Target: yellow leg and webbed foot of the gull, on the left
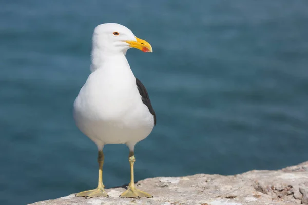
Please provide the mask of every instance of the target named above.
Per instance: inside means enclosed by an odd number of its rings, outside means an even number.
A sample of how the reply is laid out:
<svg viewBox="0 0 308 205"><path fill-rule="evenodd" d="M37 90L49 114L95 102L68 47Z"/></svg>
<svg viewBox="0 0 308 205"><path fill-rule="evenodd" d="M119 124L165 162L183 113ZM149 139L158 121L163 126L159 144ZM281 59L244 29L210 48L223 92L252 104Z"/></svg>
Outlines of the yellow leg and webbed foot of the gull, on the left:
<svg viewBox="0 0 308 205"><path fill-rule="evenodd" d="M83 197L86 197L86 198L92 198L92 197L98 197L98 196L108 197L107 192L104 190L105 186L103 184L103 163L104 163L103 151L99 151L98 162L99 162L99 183L98 183L98 187L96 189L79 192L75 196L83 196Z"/></svg>

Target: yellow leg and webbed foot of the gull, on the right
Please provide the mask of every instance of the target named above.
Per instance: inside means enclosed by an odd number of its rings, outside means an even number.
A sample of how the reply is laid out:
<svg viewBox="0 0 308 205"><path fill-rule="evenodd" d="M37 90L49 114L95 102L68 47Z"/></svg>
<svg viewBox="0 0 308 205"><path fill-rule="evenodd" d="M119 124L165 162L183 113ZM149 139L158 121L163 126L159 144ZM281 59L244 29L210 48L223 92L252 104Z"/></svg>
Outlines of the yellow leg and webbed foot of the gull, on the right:
<svg viewBox="0 0 308 205"><path fill-rule="evenodd" d="M133 176L133 164L135 162L134 153L133 151L129 152L129 163L130 163L130 183L128 185L128 189L123 192L120 197L129 197L129 198L138 198L141 197L147 197L147 198L153 198L151 194L148 194L146 192L143 192L139 189L137 189L134 185L134 176Z"/></svg>

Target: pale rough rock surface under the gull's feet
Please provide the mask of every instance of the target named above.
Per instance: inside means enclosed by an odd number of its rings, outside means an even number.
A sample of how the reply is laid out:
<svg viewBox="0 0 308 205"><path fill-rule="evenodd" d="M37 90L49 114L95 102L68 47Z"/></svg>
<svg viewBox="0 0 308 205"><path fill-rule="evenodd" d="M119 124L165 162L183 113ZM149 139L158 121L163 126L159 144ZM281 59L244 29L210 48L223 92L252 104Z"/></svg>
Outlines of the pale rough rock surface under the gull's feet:
<svg viewBox="0 0 308 205"><path fill-rule="evenodd" d="M119 187L106 189L109 198L86 199L71 194L33 204L308 204L308 161L278 171L253 170L233 176L196 174L150 178L139 181L137 186L154 198L118 198L125 190Z"/></svg>

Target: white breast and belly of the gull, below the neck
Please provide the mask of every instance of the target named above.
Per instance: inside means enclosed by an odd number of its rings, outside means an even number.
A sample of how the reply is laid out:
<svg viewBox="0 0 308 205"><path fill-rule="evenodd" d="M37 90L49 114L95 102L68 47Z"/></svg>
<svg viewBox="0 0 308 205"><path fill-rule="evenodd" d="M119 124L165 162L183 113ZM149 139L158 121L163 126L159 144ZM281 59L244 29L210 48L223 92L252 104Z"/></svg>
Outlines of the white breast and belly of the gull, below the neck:
<svg viewBox="0 0 308 205"><path fill-rule="evenodd" d="M112 69L105 69L105 65L91 73L74 102L76 125L98 147L134 145L154 126L153 115L142 103L127 61L117 65L109 65Z"/></svg>

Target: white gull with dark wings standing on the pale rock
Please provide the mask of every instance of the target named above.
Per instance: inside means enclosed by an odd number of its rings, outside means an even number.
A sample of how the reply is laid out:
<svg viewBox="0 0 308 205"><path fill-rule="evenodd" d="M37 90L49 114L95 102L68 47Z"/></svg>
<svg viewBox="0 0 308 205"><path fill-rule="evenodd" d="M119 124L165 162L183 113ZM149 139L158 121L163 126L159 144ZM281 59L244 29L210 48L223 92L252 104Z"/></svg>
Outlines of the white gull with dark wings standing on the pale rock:
<svg viewBox="0 0 308 205"><path fill-rule="evenodd" d="M126 59L130 48L153 51L148 42L137 38L123 25L106 23L95 27L91 73L74 101L73 115L76 126L98 147L99 182L96 189L76 196L108 197L103 184L103 147L106 144L126 144L129 148L130 183L120 197L153 197L134 185L134 146L151 133L156 125L156 115L146 88L134 76Z"/></svg>

